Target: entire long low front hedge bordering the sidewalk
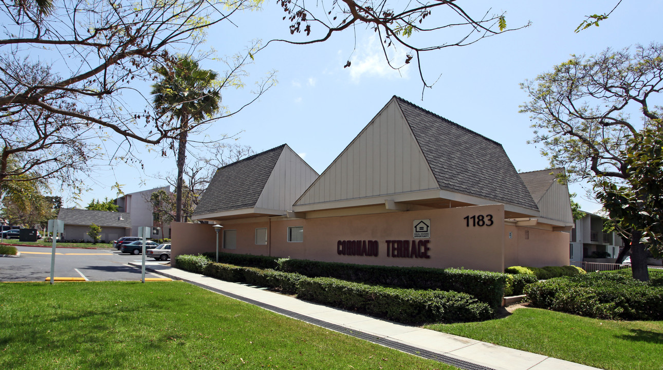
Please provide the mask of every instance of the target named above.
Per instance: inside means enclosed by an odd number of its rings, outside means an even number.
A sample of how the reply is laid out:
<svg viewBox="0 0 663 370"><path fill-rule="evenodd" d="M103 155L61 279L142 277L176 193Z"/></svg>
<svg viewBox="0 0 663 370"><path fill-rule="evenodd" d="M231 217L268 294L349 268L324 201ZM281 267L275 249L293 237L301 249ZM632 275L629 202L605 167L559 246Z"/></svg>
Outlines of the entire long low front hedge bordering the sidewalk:
<svg viewBox="0 0 663 370"><path fill-rule="evenodd" d="M233 282L247 282L297 294L298 298L407 324L488 320L493 309L464 293L371 286L334 278L212 263L207 257L179 255L178 268Z"/></svg>

